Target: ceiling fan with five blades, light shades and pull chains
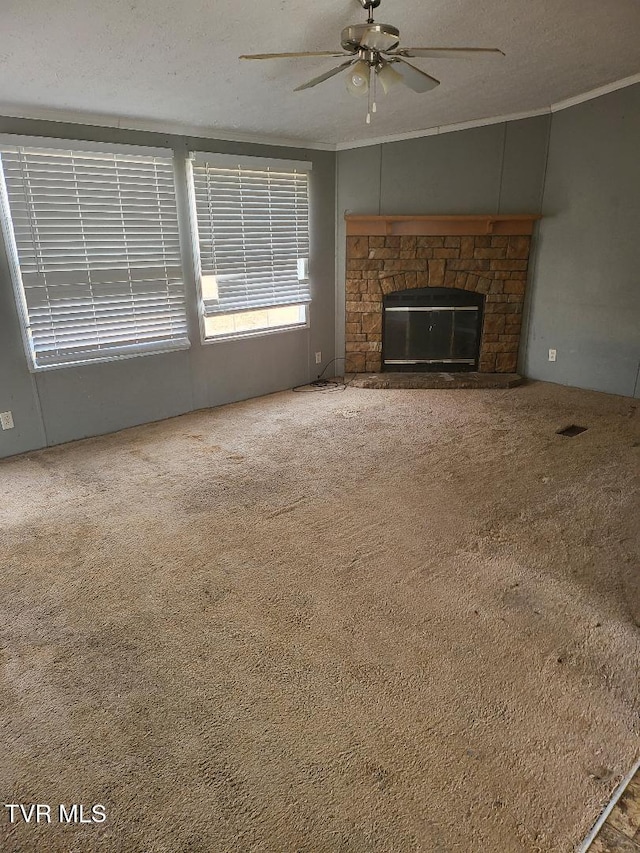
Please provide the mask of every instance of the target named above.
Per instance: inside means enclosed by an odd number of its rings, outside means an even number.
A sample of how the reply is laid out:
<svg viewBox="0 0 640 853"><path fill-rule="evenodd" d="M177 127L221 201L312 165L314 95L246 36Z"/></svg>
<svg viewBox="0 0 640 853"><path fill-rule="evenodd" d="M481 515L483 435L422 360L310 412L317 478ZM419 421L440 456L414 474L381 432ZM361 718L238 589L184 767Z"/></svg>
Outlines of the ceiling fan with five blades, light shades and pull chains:
<svg viewBox="0 0 640 853"><path fill-rule="evenodd" d="M342 51L320 50L299 53L243 54L240 59L295 59L306 56L348 57L346 62L314 77L295 91L311 89L342 71L347 71L347 90L355 96L369 96L367 124L376 112L376 83L385 94L398 83L404 83L414 92L429 92L440 85L430 74L407 62L407 57L429 59L455 59L476 56L504 56L495 47L400 47L400 31L391 24L378 24L373 20L373 10L380 0L358 0L368 17L366 24L352 24L342 31Z"/></svg>

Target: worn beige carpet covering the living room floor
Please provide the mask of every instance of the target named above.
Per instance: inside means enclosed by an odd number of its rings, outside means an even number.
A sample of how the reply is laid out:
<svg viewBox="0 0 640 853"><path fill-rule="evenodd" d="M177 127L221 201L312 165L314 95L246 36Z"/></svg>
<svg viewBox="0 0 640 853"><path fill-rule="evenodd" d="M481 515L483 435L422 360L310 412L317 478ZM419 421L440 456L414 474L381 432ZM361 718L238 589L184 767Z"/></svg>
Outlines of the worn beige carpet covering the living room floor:
<svg viewBox="0 0 640 853"><path fill-rule="evenodd" d="M287 392L0 481L2 851L564 853L638 754L639 401Z"/></svg>

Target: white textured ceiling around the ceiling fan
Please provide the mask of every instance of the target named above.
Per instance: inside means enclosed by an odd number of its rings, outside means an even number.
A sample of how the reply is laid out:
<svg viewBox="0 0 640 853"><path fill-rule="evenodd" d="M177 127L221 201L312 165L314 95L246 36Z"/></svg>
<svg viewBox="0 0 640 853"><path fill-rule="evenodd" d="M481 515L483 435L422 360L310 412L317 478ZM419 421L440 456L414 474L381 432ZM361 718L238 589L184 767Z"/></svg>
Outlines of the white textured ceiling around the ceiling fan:
<svg viewBox="0 0 640 853"><path fill-rule="evenodd" d="M640 0L382 0L376 20L410 45L499 47L503 59L414 60L442 85L366 102L339 60L247 62L241 53L331 50L357 0L4 0L0 113L228 137L362 143L532 112L640 72Z"/></svg>

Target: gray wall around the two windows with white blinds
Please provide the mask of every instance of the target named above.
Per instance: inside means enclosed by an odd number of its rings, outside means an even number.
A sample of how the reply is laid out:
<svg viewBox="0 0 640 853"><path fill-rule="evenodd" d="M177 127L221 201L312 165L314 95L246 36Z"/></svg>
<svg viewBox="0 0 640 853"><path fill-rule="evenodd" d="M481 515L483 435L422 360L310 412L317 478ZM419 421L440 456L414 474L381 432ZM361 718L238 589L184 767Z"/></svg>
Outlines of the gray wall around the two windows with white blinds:
<svg viewBox="0 0 640 853"><path fill-rule="evenodd" d="M8 118L0 118L0 133L169 145L183 158L193 148L313 163L309 329L201 344L193 264L189 246L184 245L189 350L30 373L0 240L0 411L11 410L15 421L14 429L0 431L0 457L291 388L315 378L331 360L335 348L335 154ZM180 156L176 192L184 236L188 235L188 206ZM319 366L315 364L318 351L323 356Z"/></svg>

